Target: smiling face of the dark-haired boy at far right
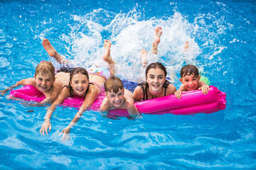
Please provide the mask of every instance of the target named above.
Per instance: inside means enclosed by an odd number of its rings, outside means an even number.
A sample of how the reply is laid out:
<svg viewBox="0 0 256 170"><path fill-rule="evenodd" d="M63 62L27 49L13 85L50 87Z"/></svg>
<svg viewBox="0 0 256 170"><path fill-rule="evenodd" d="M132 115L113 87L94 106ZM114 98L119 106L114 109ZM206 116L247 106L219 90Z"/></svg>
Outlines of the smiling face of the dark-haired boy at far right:
<svg viewBox="0 0 256 170"><path fill-rule="evenodd" d="M193 74L190 74L184 75L182 79L180 79L180 81L184 85L186 91L193 91L198 89L198 83L200 78L200 76L195 77Z"/></svg>

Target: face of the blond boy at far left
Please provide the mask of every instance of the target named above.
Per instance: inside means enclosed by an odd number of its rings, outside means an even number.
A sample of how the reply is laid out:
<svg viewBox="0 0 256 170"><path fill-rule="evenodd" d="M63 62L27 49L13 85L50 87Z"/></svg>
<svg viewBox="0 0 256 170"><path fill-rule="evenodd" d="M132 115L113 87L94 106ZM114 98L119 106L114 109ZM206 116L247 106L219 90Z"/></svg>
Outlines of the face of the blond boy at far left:
<svg viewBox="0 0 256 170"><path fill-rule="evenodd" d="M41 74L38 73L35 76L35 81L36 81L36 87L39 91L43 92L48 92L50 91L51 87L54 84L54 77L50 74Z"/></svg>

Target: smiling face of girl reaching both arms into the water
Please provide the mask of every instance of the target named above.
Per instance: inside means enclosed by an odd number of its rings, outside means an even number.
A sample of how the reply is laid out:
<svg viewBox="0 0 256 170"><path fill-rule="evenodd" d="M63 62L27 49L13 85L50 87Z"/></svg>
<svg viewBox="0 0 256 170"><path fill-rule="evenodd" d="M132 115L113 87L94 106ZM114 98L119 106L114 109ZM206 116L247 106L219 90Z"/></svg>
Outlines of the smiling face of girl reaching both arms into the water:
<svg viewBox="0 0 256 170"><path fill-rule="evenodd" d="M85 74L73 74L70 86L76 96L85 96L85 92L89 86L89 80Z"/></svg>

